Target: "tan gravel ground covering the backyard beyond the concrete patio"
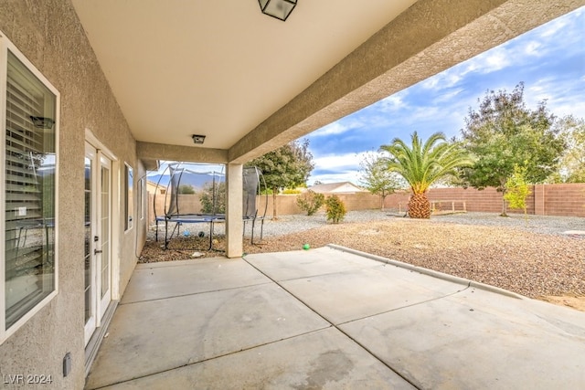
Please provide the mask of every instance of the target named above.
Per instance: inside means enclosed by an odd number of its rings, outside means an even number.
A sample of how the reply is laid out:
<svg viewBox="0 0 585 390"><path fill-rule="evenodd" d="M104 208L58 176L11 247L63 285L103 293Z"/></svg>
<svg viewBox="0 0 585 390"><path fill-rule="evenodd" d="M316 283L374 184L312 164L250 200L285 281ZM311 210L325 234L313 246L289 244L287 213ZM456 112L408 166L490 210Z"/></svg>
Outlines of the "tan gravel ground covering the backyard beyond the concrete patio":
<svg viewBox="0 0 585 390"><path fill-rule="evenodd" d="M218 238L214 248L221 249L223 226L218 224L214 230ZM337 244L532 298L581 299L585 297L585 236L564 233L571 230L585 230L585 218L528 216L526 220L522 215L467 213L415 220L369 210L349 212L337 225L326 223L323 215L267 219L261 245L250 245L248 224L244 251L278 252L299 250L305 243L312 248ZM256 227L255 234L259 231ZM162 250L162 242L150 238L141 261L193 258L194 248L208 245L208 236L197 237L195 229L193 233L174 238L168 250ZM201 257L218 256L217 250L198 252Z"/></svg>

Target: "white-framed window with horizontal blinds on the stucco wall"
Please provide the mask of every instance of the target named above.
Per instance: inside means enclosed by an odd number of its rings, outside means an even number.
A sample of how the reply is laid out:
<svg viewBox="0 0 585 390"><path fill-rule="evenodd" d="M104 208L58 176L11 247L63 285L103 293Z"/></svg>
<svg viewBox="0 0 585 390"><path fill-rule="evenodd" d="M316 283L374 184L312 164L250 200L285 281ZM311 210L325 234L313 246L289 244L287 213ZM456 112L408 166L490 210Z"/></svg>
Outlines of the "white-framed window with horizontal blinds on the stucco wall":
<svg viewBox="0 0 585 390"><path fill-rule="evenodd" d="M8 51L5 329L55 290L56 95Z"/></svg>

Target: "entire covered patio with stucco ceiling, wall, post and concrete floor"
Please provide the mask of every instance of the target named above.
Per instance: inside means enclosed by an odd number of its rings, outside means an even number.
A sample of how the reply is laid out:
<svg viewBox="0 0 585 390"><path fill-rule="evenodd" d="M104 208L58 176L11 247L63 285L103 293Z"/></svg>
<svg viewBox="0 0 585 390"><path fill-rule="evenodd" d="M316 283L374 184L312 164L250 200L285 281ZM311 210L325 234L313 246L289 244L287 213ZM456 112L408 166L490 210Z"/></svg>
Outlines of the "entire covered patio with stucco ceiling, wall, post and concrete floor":
<svg viewBox="0 0 585 390"><path fill-rule="evenodd" d="M35 100L22 123L3 120L17 135L2 160L29 172L0 170L0 251L17 242L7 216L55 218L54 261L35 266L47 279L26 278L14 310L0 299L0 374L13 388L24 373L75 390L582 384L581 313L332 248L242 258L242 174L584 4L303 0L282 22L256 0L0 1L3 115L20 107L9 85ZM30 195L33 213L18 202L37 176L27 161L45 154L56 180ZM136 267L144 182L160 161L225 165L226 258Z"/></svg>

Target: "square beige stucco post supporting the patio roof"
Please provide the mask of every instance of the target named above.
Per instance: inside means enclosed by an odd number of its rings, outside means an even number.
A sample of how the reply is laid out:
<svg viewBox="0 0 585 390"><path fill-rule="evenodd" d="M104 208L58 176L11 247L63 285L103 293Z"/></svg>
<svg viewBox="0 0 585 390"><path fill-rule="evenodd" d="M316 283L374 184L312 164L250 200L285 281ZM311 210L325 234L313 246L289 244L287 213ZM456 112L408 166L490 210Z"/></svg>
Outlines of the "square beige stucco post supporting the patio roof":
<svg viewBox="0 0 585 390"><path fill-rule="evenodd" d="M243 165L229 163L226 171L226 256L239 258L244 251L242 244L244 232L242 220Z"/></svg>

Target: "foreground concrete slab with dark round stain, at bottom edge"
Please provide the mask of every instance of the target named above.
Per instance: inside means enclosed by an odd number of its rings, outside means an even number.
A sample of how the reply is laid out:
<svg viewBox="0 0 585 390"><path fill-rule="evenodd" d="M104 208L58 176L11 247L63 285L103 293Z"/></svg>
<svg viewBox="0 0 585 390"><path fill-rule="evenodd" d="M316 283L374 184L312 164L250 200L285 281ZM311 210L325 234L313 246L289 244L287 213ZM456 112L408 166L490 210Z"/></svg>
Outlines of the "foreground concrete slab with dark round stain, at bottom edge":
<svg viewBox="0 0 585 390"><path fill-rule="evenodd" d="M106 389L414 389L335 328Z"/></svg>

